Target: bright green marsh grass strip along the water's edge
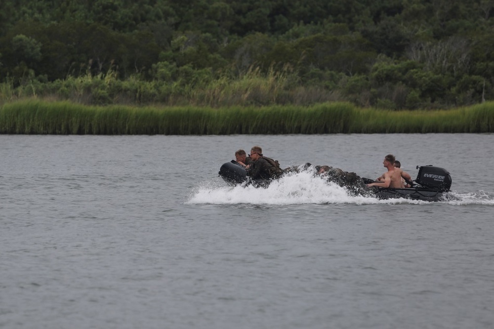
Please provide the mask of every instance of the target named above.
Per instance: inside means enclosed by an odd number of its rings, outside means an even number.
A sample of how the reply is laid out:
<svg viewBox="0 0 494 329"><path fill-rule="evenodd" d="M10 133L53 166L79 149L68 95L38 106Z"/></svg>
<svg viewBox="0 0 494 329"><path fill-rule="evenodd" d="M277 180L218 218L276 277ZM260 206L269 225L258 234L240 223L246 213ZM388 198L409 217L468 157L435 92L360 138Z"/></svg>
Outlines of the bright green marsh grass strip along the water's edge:
<svg viewBox="0 0 494 329"><path fill-rule="evenodd" d="M350 103L225 108L84 106L24 100L0 107L2 134L326 134L494 132L494 102L436 111Z"/></svg>

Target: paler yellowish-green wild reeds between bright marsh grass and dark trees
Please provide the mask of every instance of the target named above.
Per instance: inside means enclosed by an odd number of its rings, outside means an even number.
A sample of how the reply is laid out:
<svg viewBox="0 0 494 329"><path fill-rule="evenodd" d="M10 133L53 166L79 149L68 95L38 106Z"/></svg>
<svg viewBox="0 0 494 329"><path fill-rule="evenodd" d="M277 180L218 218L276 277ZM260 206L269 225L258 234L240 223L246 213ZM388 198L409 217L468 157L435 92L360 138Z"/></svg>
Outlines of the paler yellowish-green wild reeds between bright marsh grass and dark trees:
<svg viewBox="0 0 494 329"><path fill-rule="evenodd" d="M0 105L32 97L95 106L159 103L216 108L290 103L307 106L342 99L324 87L301 86L298 80L288 67L280 71L271 68L267 73L261 72L259 67L251 67L238 76L225 73L219 77L211 72L205 74L205 70L184 70L175 80L157 77L152 81L140 80L138 76L120 80L115 71L109 70L106 74L88 73L51 82L35 79L20 85L12 79L0 82Z"/></svg>

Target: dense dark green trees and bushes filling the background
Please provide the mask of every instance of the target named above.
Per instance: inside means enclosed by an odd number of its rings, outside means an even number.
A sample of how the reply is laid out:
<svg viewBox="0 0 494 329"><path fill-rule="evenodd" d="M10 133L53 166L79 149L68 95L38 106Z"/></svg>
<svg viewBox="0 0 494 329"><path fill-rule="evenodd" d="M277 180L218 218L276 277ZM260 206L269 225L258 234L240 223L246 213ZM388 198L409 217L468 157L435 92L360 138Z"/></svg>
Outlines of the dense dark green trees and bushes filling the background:
<svg viewBox="0 0 494 329"><path fill-rule="evenodd" d="M0 82L111 74L160 93L257 70L292 95L452 107L493 99L493 35L494 0L4 0Z"/></svg>

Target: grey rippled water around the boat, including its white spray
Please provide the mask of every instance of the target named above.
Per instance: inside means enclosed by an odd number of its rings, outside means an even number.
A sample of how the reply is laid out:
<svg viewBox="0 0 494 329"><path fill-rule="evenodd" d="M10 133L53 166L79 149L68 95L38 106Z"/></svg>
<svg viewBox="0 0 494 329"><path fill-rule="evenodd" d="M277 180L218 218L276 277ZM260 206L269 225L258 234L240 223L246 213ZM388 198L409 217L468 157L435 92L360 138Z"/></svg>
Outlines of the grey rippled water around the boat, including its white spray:
<svg viewBox="0 0 494 329"><path fill-rule="evenodd" d="M493 328L493 134L0 136L0 328ZM282 166L375 178L394 153L439 203L351 197Z"/></svg>

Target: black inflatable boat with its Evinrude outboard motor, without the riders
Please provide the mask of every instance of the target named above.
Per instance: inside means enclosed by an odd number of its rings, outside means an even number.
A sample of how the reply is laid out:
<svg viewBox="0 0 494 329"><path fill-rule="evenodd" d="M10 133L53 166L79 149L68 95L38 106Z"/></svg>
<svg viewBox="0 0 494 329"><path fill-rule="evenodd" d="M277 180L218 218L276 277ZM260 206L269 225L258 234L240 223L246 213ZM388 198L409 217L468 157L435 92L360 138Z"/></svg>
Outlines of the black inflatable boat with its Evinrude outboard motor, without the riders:
<svg viewBox="0 0 494 329"><path fill-rule="evenodd" d="M398 198L429 202L444 200L452 184L450 173L444 168L433 165L417 165L416 168L418 169L418 174L417 178L412 181L412 187L399 189L370 187L360 194L383 200ZM269 180L250 180L247 170L234 160L223 164L218 174L231 185L239 185L247 182L257 187L266 187L270 183ZM369 178L362 178L362 180L366 184L374 182L374 180Z"/></svg>

